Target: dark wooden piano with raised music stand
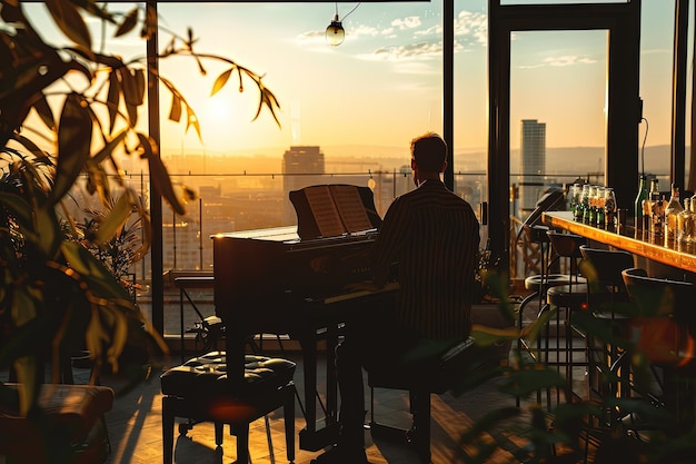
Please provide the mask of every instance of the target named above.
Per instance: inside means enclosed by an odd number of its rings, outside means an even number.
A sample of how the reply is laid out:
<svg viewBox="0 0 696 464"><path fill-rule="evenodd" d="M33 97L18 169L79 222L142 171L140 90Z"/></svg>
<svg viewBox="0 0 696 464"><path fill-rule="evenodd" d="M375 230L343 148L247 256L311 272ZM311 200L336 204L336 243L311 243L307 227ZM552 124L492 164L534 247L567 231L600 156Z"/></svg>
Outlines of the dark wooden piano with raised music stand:
<svg viewBox="0 0 696 464"><path fill-rule="evenodd" d="M394 302L398 284L377 293L351 290L371 278L369 251L381 219L371 190L357 187L369 229L320 237L309 205L291 194L298 226L217 234L213 239L215 306L230 354L242 356L250 334L287 334L304 358L306 427L300 448L318 451L338 435L334 347L345 324ZM325 402L317 411L318 347L326 349Z"/></svg>

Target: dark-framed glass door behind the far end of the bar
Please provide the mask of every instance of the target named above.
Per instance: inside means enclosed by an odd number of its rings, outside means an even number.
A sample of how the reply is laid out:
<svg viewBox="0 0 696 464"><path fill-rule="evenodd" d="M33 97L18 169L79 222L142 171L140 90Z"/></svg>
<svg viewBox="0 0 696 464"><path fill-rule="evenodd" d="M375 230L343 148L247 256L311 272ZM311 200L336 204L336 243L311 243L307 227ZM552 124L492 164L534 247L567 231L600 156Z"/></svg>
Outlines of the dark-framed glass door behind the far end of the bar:
<svg viewBox="0 0 696 464"><path fill-rule="evenodd" d="M545 189L591 175L618 203L635 195L639 32L639 1L491 2L489 234L510 275L516 221Z"/></svg>

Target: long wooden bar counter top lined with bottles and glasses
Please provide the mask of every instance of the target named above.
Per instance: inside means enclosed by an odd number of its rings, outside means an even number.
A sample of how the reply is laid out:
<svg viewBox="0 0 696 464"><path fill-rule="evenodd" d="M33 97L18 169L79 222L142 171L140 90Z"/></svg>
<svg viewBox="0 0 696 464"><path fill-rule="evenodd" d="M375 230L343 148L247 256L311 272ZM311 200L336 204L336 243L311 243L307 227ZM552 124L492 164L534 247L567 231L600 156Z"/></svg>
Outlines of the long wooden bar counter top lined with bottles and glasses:
<svg viewBox="0 0 696 464"><path fill-rule="evenodd" d="M541 216L544 225L568 230L598 241L690 273L696 273L696 254L694 244L685 249L685 245L658 243L648 233L637 230L633 226L605 229L573 219L571 211L546 211Z"/></svg>

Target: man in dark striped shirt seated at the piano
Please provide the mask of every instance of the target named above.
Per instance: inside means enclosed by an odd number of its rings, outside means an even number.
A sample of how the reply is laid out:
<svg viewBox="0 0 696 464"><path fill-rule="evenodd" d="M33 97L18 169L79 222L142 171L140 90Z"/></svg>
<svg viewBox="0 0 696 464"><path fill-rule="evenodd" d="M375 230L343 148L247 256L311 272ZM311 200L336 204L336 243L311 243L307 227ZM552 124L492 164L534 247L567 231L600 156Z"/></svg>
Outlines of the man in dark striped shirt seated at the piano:
<svg viewBox="0 0 696 464"><path fill-rule="evenodd" d="M470 295L479 246L471 206L445 187L447 145L428 132L411 141L417 188L394 200L372 249L372 283L387 284L398 263L400 290L394 307L375 308L370 320L348 324L336 348L341 396L338 443L314 462L367 463L362 367L417 362L468 337Z"/></svg>

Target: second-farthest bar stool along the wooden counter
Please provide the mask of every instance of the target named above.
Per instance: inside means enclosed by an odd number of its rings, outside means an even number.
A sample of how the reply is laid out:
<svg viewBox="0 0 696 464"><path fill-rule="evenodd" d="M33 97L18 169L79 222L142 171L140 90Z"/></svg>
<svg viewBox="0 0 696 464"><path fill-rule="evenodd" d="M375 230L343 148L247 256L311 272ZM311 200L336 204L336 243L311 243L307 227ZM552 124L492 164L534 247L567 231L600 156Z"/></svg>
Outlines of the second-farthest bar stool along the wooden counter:
<svg viewBox="0 0 696 464"><path fill-rule="evenodd" d="M587 363L576 363L574 359L574 353L578 349L575 348L573 338L576 333L570 325L570 316L574 310L584 310L587 307L587 283L580 277L578 272L578 260L581 258L580 246L585 245L586 239L574 234L561 234L555 230L547 233L551 250L554 253L554 263L558 263L561 268L567 269L567 275L570 278L567 285L557 285L548 288L546 292L546 302L548 303L548 309L556 308L555 320L555 345L550 346L550 320L546 325L545 337L545 363L546 365L555 365L560 371L565 369L566 375L566 401L571 399L573 394L573 368L577 365L586 366ZM581 280L583 279L583 280ZM581 282L580 282L581 280ZM563 319L561 319L563 313ZM563 327L561 327L563 326ZM583 335L584 334L579 334ZM561 337L564 338L565 346L561 347ZM585 352L585 348L581 349ZM550 361L550 354L554 353L554 358ZM561 361L561 356L565 355L565 361ZM556 402L560 403L560 391L556 389ZM547 407L551 407L550 395L547 395Z"/></svg>

